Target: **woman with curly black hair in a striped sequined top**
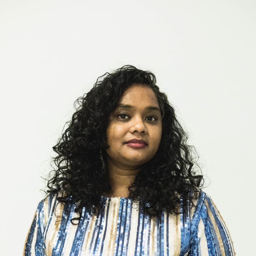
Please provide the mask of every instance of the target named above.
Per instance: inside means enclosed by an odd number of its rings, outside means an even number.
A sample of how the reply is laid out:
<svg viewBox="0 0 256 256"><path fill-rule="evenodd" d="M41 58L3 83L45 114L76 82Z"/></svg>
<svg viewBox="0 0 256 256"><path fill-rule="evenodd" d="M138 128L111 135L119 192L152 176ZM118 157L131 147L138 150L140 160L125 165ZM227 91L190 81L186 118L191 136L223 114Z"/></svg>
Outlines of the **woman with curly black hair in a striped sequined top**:
<svg viewBox="0 0 256 256"><path fill-rule="evenodd" d="M154 74L100 78L53 147L24 255L235 255Z"/></svg>

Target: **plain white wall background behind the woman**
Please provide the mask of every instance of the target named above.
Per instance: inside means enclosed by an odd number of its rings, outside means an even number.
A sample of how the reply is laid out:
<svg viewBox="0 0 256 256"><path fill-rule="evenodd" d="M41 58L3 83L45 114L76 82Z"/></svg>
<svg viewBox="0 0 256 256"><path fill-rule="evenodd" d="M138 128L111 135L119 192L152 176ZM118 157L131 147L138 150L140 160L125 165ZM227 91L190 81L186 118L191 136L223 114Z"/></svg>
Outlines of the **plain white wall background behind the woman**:
<svg viewBox="0 0 256 256"><path fill-rule="evenodd" d="M255 244L255 1L0 1L1 255L22 255L73 103L150 70L199 154L237 255ZM254 197L252 197L254 195Z"/></svg>

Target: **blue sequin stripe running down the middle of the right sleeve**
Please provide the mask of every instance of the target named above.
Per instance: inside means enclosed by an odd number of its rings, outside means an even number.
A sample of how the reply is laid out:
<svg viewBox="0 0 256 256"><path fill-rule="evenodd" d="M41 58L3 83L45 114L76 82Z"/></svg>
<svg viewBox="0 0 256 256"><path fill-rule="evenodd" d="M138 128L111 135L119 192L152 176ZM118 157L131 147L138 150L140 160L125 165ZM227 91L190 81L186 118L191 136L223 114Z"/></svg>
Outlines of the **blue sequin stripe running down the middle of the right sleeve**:
<svg viewBox="0 0 256 256"><path fill-rule="evenodd" d="M210 222L210 218L207 212L206 204L204 202L201 210L201 218L204 224L204 233L206 235L207 246L208 246L208 253L209 255L219 255L217 252L218 241L216 241L217 236L214 231L214 227ZM218 239L217 239L218 240Z"/></svg>

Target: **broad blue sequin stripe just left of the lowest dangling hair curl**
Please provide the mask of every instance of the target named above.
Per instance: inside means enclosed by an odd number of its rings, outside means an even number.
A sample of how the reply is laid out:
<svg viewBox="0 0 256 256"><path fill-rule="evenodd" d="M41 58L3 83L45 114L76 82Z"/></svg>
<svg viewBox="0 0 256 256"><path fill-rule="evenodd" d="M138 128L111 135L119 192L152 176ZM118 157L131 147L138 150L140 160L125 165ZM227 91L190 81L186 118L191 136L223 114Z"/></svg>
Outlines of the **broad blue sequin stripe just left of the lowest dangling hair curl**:
<svg viewBox="0 0 256 256"><path fill-rule="evenodd" d="M57 241L56 245L53 247L51 256L56 256L56 255L62 254L63 247L66 242L66 236L68 235L69 227L71 224L70 220L73 218L73 215L74 215L75 206L76 206L75 204L73 204L73 205L65 204L64 205L64 209L62 212L62 218L61 218L61 222L60 222L60 228L59 228L58 235L57 235L58 241Z"/></svg>

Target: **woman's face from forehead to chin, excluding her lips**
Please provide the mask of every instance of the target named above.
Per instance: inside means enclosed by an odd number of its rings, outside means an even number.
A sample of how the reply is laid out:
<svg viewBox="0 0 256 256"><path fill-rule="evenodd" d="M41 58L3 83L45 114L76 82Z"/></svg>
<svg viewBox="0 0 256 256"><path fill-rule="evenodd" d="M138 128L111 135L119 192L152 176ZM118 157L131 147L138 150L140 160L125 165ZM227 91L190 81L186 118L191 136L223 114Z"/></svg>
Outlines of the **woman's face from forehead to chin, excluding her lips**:
<svg viewBox="0 0 256 256"><path fill-rule="evenodd" d="M116 165L138 167L151 160L159 148L162 120L158 100L149 87L133 84L124 92L119 105L107 128L107 157ZM129 146L126 142L131 139L142 139L146 145Z"/></svg>

